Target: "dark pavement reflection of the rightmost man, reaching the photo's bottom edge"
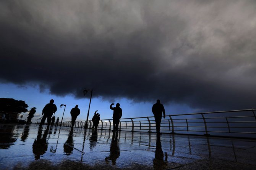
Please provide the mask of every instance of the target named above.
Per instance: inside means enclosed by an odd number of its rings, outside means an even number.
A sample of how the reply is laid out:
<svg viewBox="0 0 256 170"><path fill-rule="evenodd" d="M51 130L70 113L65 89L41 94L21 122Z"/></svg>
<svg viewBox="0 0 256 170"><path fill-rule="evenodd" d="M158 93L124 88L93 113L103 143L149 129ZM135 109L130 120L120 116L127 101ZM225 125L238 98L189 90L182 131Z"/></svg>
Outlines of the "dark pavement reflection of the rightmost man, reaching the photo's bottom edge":
<svg viewBox="0 0 256 170"><path fill-rule="evenodd" d="M154 169L166 169L167 168L167 158L168 158L167 153L165 153L165 160L164 160L164 153L162 150L160 136L157 135L155 159L153 160Z"/></svg>

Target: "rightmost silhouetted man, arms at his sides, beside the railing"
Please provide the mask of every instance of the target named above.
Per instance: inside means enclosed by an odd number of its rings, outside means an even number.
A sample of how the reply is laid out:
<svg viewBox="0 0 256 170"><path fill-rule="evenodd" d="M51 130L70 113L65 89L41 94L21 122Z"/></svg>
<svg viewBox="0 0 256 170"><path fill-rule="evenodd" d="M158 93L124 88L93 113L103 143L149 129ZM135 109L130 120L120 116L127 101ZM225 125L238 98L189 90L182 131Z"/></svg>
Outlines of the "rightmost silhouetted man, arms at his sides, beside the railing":
<svg viewBox="0 0 256 170"><path fill-rule="evenodd" d="M156 121L156 132L158 134L160 133L160 126L161 126L161 120L162 120L162 113L164 114L164 119L165 119L165 110L164 110L164 105L160 103L160 100L156 100L156 103L152 106L152 112L155 116L155 121Z"/></svg>

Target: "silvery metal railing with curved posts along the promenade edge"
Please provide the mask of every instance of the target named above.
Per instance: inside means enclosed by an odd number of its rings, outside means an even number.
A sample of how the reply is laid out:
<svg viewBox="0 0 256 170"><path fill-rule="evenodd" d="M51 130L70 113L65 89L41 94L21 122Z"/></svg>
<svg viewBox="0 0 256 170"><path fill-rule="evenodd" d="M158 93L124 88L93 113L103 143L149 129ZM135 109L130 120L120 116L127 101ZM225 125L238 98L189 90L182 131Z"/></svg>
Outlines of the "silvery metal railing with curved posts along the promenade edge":
<svg viewBox="0 0 256 170"><path fill-rule="evenodd" d="M254 111L256 109L168 115L162 118L161 132L256 138ZM75 127L84 127L84 124L85 121L76 121ZM98 129L111 130L112 125L112 119L100 120ZM63 122L63 126L71 126L71 122ZM88 126L92 127L92 121L89 121ZM119 130L156 132L154 116L122 118Z"/></svg>

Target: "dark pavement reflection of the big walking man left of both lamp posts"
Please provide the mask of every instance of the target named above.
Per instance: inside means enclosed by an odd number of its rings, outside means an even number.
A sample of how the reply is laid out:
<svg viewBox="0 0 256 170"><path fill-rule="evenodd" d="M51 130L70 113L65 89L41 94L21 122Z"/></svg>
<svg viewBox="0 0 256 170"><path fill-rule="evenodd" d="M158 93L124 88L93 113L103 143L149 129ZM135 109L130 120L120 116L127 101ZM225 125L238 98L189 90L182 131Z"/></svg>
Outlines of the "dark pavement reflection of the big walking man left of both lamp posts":
<svg viewBox="0 0 256 170"><path fill-rule="evenodd" d="M46 141L46 137L49 132L49 126L47 126L46 130L44 131L44 135L42 137L42 129L38 129L37 138L35 139L32 149L33 154L35 155L35 159L40 159L40 156L45 154L48 148L48 143ZM41 138L42 137L42 138Z"/></svg>

